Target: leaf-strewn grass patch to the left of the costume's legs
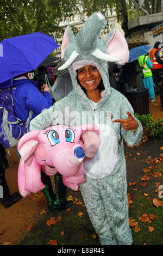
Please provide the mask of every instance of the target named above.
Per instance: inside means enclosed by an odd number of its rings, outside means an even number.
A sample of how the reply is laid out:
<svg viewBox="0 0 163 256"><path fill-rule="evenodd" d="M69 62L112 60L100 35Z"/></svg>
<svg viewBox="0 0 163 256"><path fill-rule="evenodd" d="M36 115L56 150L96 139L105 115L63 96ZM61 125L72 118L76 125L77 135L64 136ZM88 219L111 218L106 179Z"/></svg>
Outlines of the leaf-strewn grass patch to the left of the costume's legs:
<svg viewBox="0 0 163 256"><path fill-rule="evenodd" d="M61 221L49 227L46 222L51 217L57 219L61 216ZM61 231L64 234L61 235ZM57 240L58 245L100 245L98 236L95 235L90 219L87 216L78 217L77 214L64 212L47 212L42 216L30 231L27 232L19 245L47 245L50 240Z"/></svg>

